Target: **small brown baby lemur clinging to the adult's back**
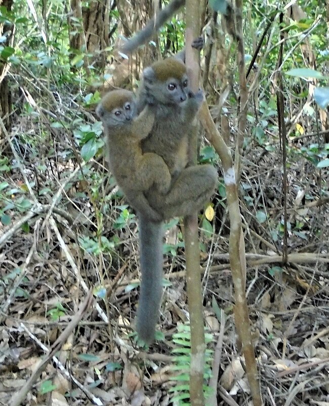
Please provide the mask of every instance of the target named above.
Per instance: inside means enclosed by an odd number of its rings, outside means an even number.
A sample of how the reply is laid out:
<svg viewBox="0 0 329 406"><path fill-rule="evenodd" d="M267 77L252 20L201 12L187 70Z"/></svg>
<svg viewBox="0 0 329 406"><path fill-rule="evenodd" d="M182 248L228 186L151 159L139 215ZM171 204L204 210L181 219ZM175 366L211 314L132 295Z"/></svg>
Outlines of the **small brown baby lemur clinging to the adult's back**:
<svg viewBox="0 0 329 406"><path fill-rule="evenodd" d="M119 89L108 92L97 106L96 113L104 126L106 152L111 172L129 203L151 222L162 215L153 209L143 192L154 186L159 195L170 188L171 175L158 155L142 153L141 140L152 129L154 114L146 106L138 114L133 92Z"/></svg>

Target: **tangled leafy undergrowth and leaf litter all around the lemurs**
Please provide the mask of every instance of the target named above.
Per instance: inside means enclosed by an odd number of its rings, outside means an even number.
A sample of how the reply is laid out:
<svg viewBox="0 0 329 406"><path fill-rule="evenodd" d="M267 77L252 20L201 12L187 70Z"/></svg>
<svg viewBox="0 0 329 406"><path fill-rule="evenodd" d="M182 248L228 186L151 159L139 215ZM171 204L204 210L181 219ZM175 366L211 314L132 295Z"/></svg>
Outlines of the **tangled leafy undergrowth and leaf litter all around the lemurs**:
<svg viewBox="0 0 329 406"><path fill-rule="evenodd" d="M305 36L307 56L315 55L317 71L327 74L325 24L313 3L305 6L308 18L301 22L287 17L285 72L314 68L298 46ZM178 362L172 349L180 344L173 334L177 325L188 324L182 223L173 219L166 225L159 340L145 354L133 328L138 221L106 168L102 127L94 113L100 95L95 85L103 82L104 72L92 61L100 53L69 49L69 28L59 19L61 7L52 3L47 26L30 20L33 13L25 2L14 3L7 15L0 9L0 21L16 24L12 43L1 49L13 112L12 126L9 131L3 128L0 138L0 402L8 403L18 388L27 385L46 352L43 346L51 349L64 328L70 330L69 322L92 289L97 306L89 305L81 313L56 354L59 363L54 359L48 363L23 404L170 404L169 388L178 385L171 380L176 371L170 366ZM259 4L252 15L246 11L247 60L260 35L257 29L267 21L265 10ZM113 24L115 18L119 21L113 10ZM253 18L260 28L252 26ZM169 38L182 46L184 27L179 21L176 18L161 30L160 45ZM273 90L279 27L271 29L249 83L239 185L248 303L265 404L324 406L329 402L329 177L328 167L318 164L327 160L329 143L310 93L318 83L299 77L303 75L285 75L288 132L287 159L282 161ZM113 48L114 40L115 35ZM234 151L238 96L235 48L228 35L225 46L224 76L230 93L220 111L222 84L214 62L205 91L219 128L221 115L227 116L228 142ZM112 49L104 52L114 55ZM114 68L106 71L106 79L108 72L125 66L125 60L122 65L110 62ZM204 63L203 58L201 68ZM138 76L131 83L135 87ZM203 135L201 129L200 139ZM214 349L217 342L221 348L218 402L226 396L230 404L247 405L249 387L232 313L225 187L218 157L203 138L199 162L212 162L220 175L215 196L199 214L204 314L213 336L209 347Z"/></svg>

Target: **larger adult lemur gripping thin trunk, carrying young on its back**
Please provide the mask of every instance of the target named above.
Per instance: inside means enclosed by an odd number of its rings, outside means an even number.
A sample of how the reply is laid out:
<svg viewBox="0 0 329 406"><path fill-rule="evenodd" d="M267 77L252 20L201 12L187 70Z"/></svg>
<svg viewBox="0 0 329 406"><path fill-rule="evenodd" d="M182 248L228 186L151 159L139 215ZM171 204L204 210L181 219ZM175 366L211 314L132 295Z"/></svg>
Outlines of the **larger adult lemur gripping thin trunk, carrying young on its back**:
<svg viewBox="0 0 329 406"><path fill-rule="evenodd" d="M203 92L194 94L189 89L185 64L172 57L144 69L138 100L139 111L149 106L155 116L149 136L141 142L142 151L161 156L172 176L165 196L152 187L146 198L163 219L191 214L207 202L217 183L213 166L186 167L192 121L204 100ZM151 343L162 293L162 231L160 222L150 222L143 215L139 227L142 283L137 332Z"/></svg>

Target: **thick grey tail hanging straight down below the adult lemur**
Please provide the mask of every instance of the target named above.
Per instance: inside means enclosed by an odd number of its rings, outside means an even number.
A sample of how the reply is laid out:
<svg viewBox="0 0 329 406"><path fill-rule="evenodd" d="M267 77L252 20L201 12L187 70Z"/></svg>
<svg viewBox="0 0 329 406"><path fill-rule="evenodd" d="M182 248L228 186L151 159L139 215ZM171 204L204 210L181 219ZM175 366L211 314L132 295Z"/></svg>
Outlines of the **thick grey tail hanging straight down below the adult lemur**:
<svg viewBox="0 0 329 406"><path fill-rule="evenodd" d="M162 223L139 217L142 282L137 310L137 333L146 344L154 340L162 296Z"/></svg>

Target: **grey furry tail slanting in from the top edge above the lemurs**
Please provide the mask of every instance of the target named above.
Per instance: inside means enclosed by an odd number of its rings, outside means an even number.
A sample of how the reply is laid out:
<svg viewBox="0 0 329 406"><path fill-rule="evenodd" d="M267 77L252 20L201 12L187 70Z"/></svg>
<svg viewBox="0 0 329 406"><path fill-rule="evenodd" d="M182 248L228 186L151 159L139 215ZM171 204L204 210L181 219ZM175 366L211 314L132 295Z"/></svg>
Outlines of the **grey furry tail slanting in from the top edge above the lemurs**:
<svg viewBox="0 0 329 406"><path fill-rule="evenodd" d="M183 5L185 4L185 0L172 0L168 6L164 9L160 10L156 16L156 20L151 19L144 29L140 30L128 40L128 42L121 47L121 51L125 54L129 54L133 52L137 47L142 44L146 44L153 35L165 22Z"/></svg>

